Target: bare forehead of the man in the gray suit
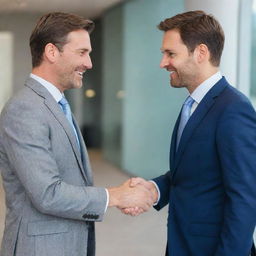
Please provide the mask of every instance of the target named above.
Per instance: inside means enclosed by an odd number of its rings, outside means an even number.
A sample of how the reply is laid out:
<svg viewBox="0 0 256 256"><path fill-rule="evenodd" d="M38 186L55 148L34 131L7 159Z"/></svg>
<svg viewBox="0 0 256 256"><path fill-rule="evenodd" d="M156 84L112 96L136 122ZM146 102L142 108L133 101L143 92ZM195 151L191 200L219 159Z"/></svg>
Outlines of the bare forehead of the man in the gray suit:
<svg viewBox="0 0 256 256"><path fill-rule="evenodd" d="M90 35L84 29L72 31L67 36L67 45L77 49L86 48L91 50Z"/></svg>

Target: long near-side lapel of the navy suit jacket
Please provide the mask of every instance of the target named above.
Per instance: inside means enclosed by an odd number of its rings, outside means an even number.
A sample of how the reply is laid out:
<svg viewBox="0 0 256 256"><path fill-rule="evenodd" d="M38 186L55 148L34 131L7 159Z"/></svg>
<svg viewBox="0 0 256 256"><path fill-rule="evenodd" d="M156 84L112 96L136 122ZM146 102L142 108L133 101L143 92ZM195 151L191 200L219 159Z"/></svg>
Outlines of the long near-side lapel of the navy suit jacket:
<svg viewBox="0 0 256 256"><path fill-rule="evenodd" d="M175 161L174 161L174 170L177 169L177 166L182 158L182 155L184 154L184 151L186 150L187 143L189 142L190 137L193 135L195 129L198 127L198 125L201 123L203 118L207 115L211 107L216 101L216 98L218 95L224 90L224 88L227 86L227 81L224 77L220 81L218 81L211 89L210 91L204 96L202 101L197 106L195 112L192 114L190 119L188 120L187 125L185 126L179 147L177 149L176 155L175 155ZM176 124L177 125L177 124ZM177 125L178 126L178 125ZM174 131L174 136L177 137L177 127L176 131ZM176 138L175 138L176 142ZM172 150L176 150L176 144L172 145Z"/></svg>

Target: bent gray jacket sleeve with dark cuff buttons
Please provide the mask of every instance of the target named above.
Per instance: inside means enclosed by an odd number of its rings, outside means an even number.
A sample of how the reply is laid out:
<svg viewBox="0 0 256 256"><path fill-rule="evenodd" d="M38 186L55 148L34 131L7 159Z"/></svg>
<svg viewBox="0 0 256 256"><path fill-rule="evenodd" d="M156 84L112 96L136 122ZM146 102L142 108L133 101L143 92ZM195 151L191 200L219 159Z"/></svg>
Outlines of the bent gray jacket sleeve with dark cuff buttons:
<svg viewBox="0 0 256 256"><path fill-rule="evenodd" d="M0 139L10 175L17 177L26 196L41 213L101 221L107 202L105 189L63 181L60 168L65 167L58 166L54 158L46 113L42 112L31 108L27 102L9 104L3 111ZM70 171L79 172L78 168L74 166Z"/></svg>

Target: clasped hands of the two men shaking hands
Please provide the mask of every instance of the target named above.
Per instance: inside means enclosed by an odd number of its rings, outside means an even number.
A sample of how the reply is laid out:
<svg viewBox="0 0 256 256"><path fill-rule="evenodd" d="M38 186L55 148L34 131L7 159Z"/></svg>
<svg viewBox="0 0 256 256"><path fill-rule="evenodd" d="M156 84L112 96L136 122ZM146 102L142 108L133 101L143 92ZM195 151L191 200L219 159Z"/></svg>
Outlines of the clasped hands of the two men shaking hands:
<svg viewBox="0 0 256 256"><path fill-rule="evenodd" d="M119 187L108 188L108 192L108 206L115 206L131 216L148 211L158 200L155 184L142 178L131 178Z"/></svg>

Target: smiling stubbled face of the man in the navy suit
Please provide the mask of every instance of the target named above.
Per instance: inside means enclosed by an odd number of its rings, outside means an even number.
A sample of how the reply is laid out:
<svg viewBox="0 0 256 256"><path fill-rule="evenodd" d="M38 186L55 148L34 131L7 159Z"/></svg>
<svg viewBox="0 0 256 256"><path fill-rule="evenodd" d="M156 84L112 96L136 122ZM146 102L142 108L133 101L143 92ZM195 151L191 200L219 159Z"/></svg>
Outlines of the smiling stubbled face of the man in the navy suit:
<svg viewBox="0 0 256 256"><path fill-rule="evenodd" d="M198 85L199 70L194 52L189 52L178 30L164 33L161 51L161 68L170 72L171 86L186 87L189 91Z"/></svg>

